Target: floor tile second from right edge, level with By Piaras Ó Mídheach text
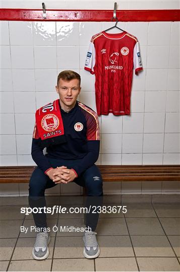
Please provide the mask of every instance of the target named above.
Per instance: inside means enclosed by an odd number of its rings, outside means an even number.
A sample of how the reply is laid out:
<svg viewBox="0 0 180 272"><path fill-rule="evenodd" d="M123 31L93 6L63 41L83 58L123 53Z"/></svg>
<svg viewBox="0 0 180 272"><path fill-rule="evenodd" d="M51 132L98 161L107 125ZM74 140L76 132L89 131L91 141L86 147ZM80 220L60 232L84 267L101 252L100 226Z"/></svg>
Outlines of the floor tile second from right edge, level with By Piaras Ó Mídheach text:
<svg viewBox="0 0 180 272"><path fill-rule="evenodd" d="M157 218L127 218L130 235L164 235Z"/></svg>

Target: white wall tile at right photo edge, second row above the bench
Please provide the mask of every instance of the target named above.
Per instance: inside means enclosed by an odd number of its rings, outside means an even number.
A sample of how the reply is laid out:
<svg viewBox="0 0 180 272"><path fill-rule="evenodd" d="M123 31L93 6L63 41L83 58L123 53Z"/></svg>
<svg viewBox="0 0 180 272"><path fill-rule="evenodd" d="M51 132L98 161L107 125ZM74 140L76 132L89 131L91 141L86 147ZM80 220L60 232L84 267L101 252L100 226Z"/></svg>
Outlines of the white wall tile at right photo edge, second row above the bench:
<svg viewBox="0 0 180 272"><path fill-rule="evenodd" d="M179 153L179 133L164 134L164 153Z"/></svg>

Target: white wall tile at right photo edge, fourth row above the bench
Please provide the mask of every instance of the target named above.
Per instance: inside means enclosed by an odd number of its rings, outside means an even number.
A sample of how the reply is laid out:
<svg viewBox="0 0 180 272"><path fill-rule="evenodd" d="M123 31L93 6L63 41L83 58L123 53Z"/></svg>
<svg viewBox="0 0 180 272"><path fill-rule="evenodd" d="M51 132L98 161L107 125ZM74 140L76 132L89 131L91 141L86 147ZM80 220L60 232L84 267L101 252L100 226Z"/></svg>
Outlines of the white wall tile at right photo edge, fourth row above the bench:
<svg viewBox="0 0 180 272"><path fill-rule="evenodd" d="M174 91L174 92L167 92L167 99L166 99L166 112L179 112L180 105L180 92Z"/></svg>

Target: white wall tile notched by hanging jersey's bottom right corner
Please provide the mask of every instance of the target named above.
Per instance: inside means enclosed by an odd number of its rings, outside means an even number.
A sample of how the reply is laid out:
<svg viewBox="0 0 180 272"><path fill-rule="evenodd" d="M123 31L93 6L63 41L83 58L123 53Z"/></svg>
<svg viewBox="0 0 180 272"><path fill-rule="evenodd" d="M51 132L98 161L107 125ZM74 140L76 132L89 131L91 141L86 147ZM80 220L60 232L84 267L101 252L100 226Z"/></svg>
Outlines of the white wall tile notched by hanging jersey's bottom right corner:
<svg viewBox="0 0 180 272"><path fill-rule="evenodd" d="M143 133L144 113L123 116L123 133Z"/></svg>

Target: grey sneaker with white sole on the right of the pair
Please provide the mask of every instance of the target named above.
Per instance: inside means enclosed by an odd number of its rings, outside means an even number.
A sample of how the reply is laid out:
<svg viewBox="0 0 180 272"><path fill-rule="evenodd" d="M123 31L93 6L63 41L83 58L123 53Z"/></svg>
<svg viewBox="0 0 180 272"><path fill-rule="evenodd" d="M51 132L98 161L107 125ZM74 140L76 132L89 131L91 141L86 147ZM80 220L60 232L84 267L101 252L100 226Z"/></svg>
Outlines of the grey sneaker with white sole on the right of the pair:
<svg viewBox="0 0 180 272"><path fill-rule="evenodd" d="M83 236L84 251L83 254L88 259L93 259L99 256L100 249L96 240L96 232L86 231Z"/></svg>

